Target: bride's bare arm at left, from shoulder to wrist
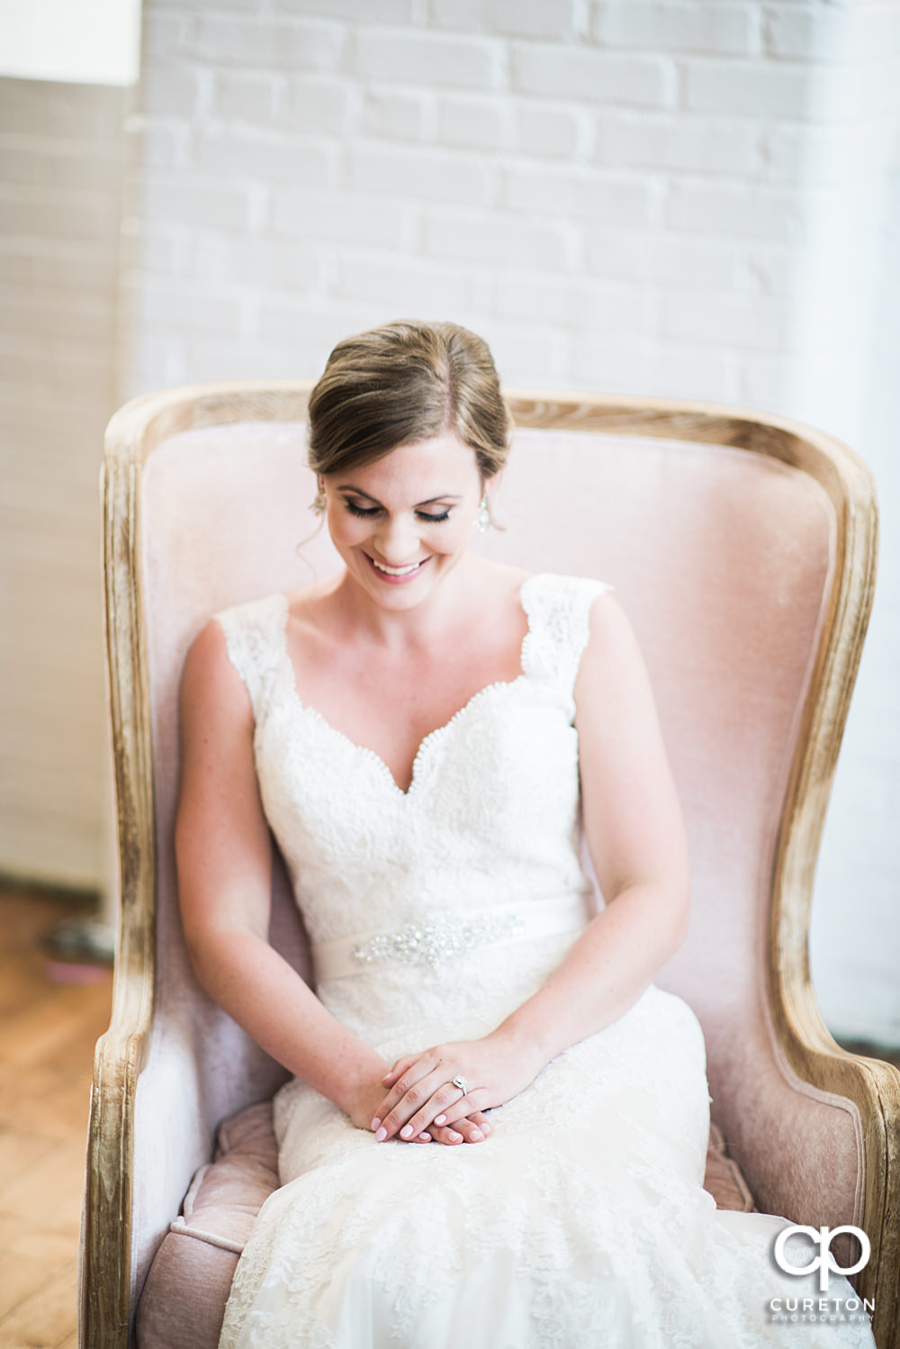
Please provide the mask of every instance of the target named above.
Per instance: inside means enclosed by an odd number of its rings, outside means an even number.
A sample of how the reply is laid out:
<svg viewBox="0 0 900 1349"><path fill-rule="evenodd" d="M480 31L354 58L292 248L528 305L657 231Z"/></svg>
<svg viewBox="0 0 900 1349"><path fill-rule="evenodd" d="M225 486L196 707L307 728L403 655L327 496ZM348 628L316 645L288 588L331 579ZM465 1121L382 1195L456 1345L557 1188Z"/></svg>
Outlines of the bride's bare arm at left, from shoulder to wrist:
<svg viewBox="0 0 900 1349"><path fill-rule="evenodd" d="M368 1098L384 1060L268 943L272 855L253 764L253 712L214 621L185 662L181 750L175 858L197 979L274 1059L368 1126Z"/></svg>

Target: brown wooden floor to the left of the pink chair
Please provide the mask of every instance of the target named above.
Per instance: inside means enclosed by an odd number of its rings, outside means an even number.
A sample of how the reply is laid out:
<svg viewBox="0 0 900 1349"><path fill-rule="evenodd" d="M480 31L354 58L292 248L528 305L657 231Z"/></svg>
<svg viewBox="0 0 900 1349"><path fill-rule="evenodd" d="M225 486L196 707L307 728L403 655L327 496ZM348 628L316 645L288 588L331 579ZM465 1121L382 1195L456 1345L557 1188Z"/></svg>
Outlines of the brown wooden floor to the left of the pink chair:
<svg viewBox="0 0 900 1349"><path fill-rule="evenodd" d="M84 911L0 885L0 1349L74 1349L93 1050L112 975L57 982L43 936Z"/></svg>

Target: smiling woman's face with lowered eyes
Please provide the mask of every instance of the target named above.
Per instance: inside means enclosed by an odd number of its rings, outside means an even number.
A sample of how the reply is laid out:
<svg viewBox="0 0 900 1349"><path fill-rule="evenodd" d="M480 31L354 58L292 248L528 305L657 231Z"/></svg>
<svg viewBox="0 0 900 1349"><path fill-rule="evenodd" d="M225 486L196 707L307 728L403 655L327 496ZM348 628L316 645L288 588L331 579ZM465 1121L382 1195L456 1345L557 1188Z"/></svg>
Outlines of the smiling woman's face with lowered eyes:
<svg viewBox="0 0 900 1349"><path fill-rule="evenodd" d="M474 452L455 434L400 445L323 478L331 540L379 604L424 599L465 553L481 500Z"/></svg>

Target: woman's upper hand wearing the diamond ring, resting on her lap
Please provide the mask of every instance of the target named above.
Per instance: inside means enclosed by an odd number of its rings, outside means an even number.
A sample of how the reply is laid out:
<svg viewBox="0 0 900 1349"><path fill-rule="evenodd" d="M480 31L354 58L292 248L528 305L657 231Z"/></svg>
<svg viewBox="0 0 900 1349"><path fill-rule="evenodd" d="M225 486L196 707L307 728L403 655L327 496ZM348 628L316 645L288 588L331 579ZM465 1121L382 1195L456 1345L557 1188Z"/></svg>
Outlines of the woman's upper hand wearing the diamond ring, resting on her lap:
<svg viewBox="0 0 900 1349"><path fill-rule="evenodd" d="M375 1136L381 1143L395 1136L418 1139L434 1126L459 1130L463 1118L484 1120L482 1110L519 1095L542 1067L544 1063L534 1051L513 1047L497 1032L481 1040L458 1040L407 1054L383 1078L389 1091L372 1117ZM453 1085L454 1077L466 1079L465 1095ZM481 1136L482 1128L476 1126Z"/></svg>

